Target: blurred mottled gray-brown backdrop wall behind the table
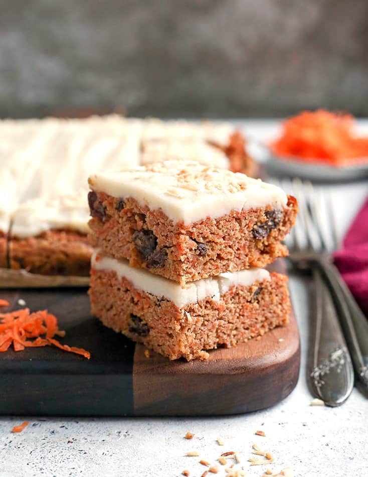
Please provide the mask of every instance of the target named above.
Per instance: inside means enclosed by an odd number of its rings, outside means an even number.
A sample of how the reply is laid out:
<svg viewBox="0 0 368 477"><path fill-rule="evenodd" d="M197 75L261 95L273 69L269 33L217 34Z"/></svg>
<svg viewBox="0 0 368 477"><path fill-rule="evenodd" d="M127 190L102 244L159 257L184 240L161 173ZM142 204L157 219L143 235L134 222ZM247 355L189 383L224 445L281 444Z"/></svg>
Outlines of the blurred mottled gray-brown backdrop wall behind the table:
<svg viewBox="0 0 368 477"><path fill-rule="evenodd" d="M0 0L0 116L368 116L368 0Z"/></svg>

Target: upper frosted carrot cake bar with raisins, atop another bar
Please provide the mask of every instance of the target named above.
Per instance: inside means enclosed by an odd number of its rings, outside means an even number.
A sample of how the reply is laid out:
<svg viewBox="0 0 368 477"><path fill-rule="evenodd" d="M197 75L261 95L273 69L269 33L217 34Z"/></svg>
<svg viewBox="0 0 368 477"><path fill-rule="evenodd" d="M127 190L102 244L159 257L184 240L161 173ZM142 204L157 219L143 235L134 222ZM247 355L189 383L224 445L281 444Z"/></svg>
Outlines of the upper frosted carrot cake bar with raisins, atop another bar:
<svg viewBox="0 0 368 477"><path fill-rule="evenodd" d="M132 267L185 284L287 255L297 202L261 180L166 161L95 174L89 184L93 245Z"/></svg>

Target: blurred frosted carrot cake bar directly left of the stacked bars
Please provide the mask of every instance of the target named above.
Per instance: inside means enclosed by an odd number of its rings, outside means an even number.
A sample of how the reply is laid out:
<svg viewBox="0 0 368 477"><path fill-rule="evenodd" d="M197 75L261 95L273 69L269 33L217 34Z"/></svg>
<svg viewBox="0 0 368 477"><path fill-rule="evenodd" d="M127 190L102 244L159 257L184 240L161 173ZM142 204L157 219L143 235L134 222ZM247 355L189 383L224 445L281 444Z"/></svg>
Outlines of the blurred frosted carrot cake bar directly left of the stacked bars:
<svg viewBox="0 0 368 477"><path fill-rule="evenodd" d="M86 191L23 203L13 216L10 267L42 275L88 276L93 249L87 222Z"/></svg>

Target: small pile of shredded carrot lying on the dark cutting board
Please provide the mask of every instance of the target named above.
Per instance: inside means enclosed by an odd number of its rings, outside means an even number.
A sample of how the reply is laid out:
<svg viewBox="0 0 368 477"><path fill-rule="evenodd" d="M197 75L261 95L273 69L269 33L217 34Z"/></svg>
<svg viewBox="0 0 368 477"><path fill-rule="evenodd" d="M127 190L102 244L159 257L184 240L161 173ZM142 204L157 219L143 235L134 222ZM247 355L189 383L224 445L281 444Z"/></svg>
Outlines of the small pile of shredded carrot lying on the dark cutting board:
<svg viewBox="0 0 368 477"><path fill-rule="evenodd" d="M0 306L9 306L9 303L0 300ZM12 344L15 351L54 345L90 359L91 354L85 349L61 344L54 336L65 336L65 331L59 330L57 318L47 310L30 313L24 308L0 314L0 351L7 351Z"/></svg>

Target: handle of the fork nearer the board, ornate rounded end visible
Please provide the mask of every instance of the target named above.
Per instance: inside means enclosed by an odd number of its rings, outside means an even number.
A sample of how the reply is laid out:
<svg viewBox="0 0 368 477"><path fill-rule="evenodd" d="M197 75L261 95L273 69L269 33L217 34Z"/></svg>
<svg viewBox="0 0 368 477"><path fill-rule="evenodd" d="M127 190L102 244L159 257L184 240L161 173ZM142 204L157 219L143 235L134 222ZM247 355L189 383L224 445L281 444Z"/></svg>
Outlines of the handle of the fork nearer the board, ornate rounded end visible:
<svg viewBox="0 0 368 477"><path fill-rule="evenodd" d="M352 391L354 370L331 292L315 264L312 272L316 300L309 379L316 396L328 406L339 406Z"/></svg>

